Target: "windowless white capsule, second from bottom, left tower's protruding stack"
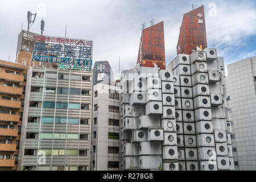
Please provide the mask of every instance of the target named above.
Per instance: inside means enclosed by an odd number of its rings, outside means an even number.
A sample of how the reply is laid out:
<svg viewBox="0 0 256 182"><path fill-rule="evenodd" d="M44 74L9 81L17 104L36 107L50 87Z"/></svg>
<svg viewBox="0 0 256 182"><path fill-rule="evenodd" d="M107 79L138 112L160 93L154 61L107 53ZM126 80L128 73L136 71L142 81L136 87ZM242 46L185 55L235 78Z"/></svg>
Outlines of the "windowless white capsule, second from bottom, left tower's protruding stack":
<svg viewBox="0 0 256 182"><path fill-rule="evenodd" d="M139 143L139 155L162 155L160 142Z"/></svg>

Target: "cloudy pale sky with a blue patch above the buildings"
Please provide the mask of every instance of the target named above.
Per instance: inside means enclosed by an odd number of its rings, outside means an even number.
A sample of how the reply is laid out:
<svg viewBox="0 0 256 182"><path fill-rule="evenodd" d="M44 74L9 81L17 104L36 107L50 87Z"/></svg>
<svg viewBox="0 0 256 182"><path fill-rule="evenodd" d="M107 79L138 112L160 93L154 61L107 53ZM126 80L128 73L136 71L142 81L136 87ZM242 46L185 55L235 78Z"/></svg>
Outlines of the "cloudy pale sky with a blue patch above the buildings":
<svg viewBox="0 0 256 182"><path fill-rule="evenodd" d="M27 30L27 11L37 13L30 31L93 40L93 61L108 60L115 75L137 63L142 24L164 21L166 63L176 56L183 14L204 5L208 47L225 65L256 56L256 2L224 0L55 0L1 1L0 60L15 61L18 34Z"/></svg>

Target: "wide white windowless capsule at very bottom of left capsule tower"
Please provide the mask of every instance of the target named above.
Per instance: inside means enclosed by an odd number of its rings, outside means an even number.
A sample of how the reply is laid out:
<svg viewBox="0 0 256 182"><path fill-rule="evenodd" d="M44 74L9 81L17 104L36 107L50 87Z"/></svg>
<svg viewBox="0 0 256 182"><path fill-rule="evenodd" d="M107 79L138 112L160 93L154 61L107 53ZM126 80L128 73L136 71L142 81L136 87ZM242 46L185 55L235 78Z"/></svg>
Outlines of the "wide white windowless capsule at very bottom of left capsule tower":
<svg viewBox="0 0 256 182"><path fill-rule="evenodd" d="M160 163L162 163L161 156L139 156L141 169L158 169Z"/></svg>

